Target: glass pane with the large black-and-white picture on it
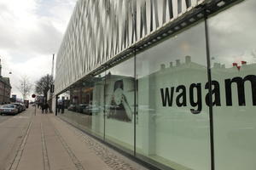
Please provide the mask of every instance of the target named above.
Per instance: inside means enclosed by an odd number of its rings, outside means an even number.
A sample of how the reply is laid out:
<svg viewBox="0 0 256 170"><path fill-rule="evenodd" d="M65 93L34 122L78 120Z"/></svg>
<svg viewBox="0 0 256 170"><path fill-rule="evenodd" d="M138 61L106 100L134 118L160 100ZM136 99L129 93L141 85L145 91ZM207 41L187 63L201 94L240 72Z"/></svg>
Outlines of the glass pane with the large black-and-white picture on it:
<svg viewBox="0 0 256 170"><path fill-rule="evenodd" d="M122 149L134 143L134 58L106 71L106 140Z"/></svg>

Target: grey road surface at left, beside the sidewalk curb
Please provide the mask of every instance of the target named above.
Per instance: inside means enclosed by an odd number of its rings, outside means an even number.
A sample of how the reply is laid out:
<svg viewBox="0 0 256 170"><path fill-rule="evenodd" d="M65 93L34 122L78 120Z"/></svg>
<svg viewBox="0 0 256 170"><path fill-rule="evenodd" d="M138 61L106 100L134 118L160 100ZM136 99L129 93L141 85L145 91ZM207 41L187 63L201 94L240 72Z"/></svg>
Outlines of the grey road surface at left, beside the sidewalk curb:
<svg viewBox="0 0 256 170"><path fill-rule="evenodd" d="M32 108L16 116L0 116L0 170L9 169L31 122Z"/></svg>

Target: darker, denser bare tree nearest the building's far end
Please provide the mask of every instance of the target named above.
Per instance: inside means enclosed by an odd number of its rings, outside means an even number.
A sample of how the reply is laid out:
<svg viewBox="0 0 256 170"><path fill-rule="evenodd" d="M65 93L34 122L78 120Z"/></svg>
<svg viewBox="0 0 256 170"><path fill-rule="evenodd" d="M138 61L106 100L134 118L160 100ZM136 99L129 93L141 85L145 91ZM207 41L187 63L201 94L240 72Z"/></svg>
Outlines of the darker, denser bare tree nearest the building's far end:
<svg viewBox="0 0 256 170"><path fill-rule="evenodd" d="M50 86L53 84L53 77L47 74L44 77L41 77L38 82L36 82L36 93L43 94L44 99L47 100L47 93L50 89Z"/></svg>

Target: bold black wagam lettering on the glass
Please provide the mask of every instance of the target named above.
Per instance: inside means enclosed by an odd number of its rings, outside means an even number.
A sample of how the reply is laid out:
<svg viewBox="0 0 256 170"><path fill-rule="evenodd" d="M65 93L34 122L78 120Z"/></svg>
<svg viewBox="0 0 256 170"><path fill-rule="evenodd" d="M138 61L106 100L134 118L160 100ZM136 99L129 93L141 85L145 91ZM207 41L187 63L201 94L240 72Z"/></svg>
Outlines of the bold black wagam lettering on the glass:
<svg viewBox="0 0 256 170"><path fill-rule="evenodd" d="M237 88L237 98L238 105L245 106L246 96L245 96L245 82L250 82L252 90L252 105L256 105L256 76L248 75L246 77L234 77L224 80L224 90L225 90L225 105L232 106L232 92L236 89L232 89L232 85L236 84ZM203 87L202 87L203 86ZM201 82L192 83L187 89L184 85L179 85L177 87L167 87L160 88L160 97L163 107L172 107L177 105L177 107L185 107L189 104L193 107L190 109L191 113L199 114L202 110L202 102L205 101L206 105L209 106L209 93L206 94L204 99L202 99L202 88L209 90L209 83L202 84ZM189 91L187 93L187 91ZM187 94L189 94L189 99L187 99ZM176 99L175 97L176 96ZM196 97L196 98L195 98ZM219 82L212 81L212 105L221 106L221 95Z"/></svg>

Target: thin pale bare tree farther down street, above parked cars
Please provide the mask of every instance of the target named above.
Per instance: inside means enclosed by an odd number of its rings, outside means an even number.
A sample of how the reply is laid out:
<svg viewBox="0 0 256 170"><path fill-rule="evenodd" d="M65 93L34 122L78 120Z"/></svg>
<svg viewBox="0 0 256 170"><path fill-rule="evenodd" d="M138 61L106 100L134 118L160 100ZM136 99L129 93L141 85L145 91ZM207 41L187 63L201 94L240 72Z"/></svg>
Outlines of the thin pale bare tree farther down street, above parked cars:
<svg viewBox="0 0 256 170"><path fill-rule="evenodd" d="M26 96L30 94L32 90L32 83L29 81L29 78L26 76L23 76L20 78L20 84L18 87L18 90L22 94L23 100L26 99Z"/></svg>

